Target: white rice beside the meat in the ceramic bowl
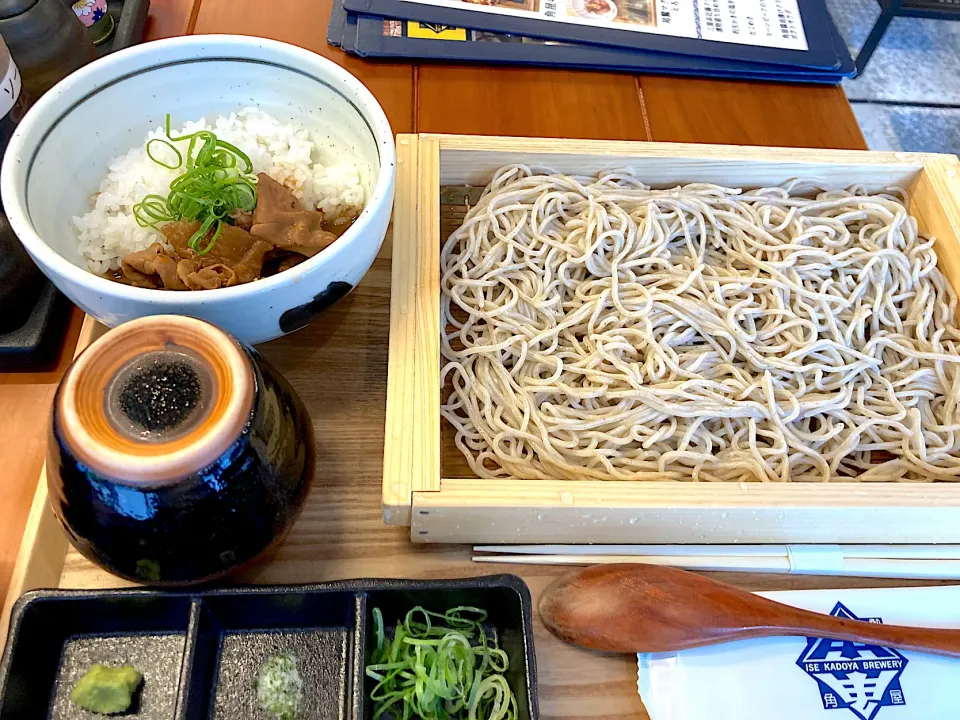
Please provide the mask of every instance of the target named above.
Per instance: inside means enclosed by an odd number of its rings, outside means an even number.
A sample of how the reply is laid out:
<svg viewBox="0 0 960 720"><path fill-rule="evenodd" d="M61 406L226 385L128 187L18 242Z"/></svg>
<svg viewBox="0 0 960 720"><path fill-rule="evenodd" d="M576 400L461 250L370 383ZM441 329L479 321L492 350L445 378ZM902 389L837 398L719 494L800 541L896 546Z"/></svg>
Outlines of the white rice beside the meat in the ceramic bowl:
<svg viewBox="0 0 960 720"><path fill-rule="evenodd" d="M332 144L321 147L305 128L286 125L250 107L230 116L221 115L212 126L201 119L171 132L179 137L205 129L213 130L219 139L243 150L253 162L254 173L265 172L286 185L304 207L321 210L328 217L338 217L363 208L366 202L357 166ZM183 173L183 168L168 170L147 156L147 141L163 137L163 128L157 128L139 147L115 158L107 177L100 183L93 210L73 218L80 254L93 272L119 268L121 258L127 253L163 241L159 230L140 227L133 216L133 206L145 195L166 197L170 183ZM178 143L178 149L184 152L185 145ZM154 150L155 156L165 157L156 145Z"/></svg>

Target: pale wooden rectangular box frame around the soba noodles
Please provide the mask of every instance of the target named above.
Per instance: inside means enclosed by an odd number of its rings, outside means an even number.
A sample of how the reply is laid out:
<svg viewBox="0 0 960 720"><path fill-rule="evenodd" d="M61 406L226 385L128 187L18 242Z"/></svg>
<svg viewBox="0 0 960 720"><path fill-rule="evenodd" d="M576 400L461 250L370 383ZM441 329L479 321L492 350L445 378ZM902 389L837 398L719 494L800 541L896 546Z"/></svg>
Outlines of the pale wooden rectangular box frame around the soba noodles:
<svg viewBox="0 0 960 720"><path fill-rule="evenodd" d="M900 185L960 290L953 155L674 143L400 135L394 211L383 515L413 542L960 542L960 483L682 483L441 476L440 188L509 163L567 173L637 168L645 182Z"/></svg>

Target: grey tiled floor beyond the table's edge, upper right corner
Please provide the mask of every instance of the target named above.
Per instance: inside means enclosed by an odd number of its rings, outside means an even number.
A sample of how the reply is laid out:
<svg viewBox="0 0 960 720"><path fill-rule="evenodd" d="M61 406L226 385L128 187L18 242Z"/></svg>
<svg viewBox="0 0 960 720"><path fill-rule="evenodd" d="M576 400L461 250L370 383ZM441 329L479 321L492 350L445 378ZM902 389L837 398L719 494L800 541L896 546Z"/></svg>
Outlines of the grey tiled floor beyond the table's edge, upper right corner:
<svg viewBox="0 0 960 720"><path fill-rule="evenodd" d="M854 56L876 0L827 0ZM843 87L874 150L960 152L960 22L896 18L861 77Z"/></svg>

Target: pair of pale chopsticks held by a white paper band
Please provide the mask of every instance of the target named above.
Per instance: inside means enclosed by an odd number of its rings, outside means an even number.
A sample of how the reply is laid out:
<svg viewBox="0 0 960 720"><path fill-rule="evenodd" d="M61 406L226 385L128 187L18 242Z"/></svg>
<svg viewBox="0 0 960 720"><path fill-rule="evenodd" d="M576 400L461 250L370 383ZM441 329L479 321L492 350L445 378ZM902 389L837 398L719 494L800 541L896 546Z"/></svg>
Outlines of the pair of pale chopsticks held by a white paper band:
<svg viewBox="0 0 960 720"><path fill-rule="evenodd" d="M536 551L538 548L539 552ZM549 552L549 550L560 548L567 552ZM604 553L602 552L604 548L628 549L629 552ZM724 572L891 577L918 580L960 579L960 546L957 545L746 545L742 547L736 545L481 545L474 550L502 553L474 555L473 560L479 563L518 565L647 563L669 565L686 570ZM746 552L740 553L741 550ZM941 551L945 557L939 556ZM899 557L901 553L905 557Z"/></svg>

